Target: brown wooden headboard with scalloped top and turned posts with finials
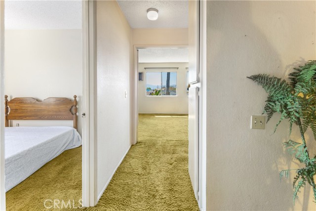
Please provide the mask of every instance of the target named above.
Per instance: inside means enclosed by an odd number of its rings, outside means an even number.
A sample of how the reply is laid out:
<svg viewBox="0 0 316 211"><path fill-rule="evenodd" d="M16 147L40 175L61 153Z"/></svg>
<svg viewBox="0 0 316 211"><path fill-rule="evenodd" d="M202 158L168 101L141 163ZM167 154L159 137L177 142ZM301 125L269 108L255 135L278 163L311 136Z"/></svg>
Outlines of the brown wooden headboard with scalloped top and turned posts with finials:
<svg viewBox="0 0 316 211"><path fill-rule="evenodd" d="M74 100L49 97L43 101L32 97L16 97L8 101L5 95L4 104L5 127L9 127L9 120L73 120L74 128L77 129L76 95Z"/></svg>

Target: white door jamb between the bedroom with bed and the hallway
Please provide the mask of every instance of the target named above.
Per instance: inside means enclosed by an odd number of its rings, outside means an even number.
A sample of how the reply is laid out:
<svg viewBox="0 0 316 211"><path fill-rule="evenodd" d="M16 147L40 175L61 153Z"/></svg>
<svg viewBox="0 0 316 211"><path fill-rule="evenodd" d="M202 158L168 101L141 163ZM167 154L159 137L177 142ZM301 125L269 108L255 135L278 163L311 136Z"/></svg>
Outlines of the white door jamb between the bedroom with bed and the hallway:
<svg viewBox="0 0 316 211"><path fill-rule="evenodd" d="M82 205L97 204L96 6L82 0Z"/></svg>

